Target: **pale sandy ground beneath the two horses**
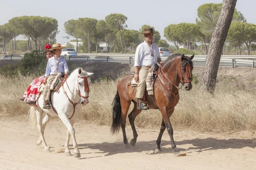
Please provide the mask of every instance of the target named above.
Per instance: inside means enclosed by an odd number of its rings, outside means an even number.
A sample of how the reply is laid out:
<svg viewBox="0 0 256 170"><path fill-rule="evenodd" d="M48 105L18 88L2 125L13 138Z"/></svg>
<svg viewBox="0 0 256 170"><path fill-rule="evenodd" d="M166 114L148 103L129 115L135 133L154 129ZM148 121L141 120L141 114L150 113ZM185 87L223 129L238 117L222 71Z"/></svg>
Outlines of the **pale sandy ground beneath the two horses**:
<svg viewBox="0 0 256 170"><path fill-rule="evenodd" d="M252 132L228 135L176 130L177 148L186 156L175 157L166 132L163 152L154 152L159 130L138 129L137 145L126 148L122 133L112 136L110 127L78 122L75 129L79 159L55 153L63 147L67 132L60 121L53 120L46 127L51 153L45 153L35 145L39 134L28 122L1 118L0 170L256 170L256 134ZM130 126L127 135L131 139Z"/></svg>

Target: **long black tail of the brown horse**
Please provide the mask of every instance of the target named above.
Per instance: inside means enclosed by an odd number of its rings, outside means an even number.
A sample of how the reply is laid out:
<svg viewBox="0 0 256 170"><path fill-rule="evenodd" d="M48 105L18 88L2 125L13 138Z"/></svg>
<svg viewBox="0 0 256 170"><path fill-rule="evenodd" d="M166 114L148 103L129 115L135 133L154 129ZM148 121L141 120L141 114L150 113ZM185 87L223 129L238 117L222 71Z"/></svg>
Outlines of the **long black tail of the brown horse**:
<svg viewBox="0 0 256 170"><path fill-rule="evenodd" d="M113 116L112 116L112 126L111 132L112 134L118 133L120 130L121 122L122 122L122 108L120 102L120 96L118 94L118 90L116 91L116 96L113 100Z"/></svg>

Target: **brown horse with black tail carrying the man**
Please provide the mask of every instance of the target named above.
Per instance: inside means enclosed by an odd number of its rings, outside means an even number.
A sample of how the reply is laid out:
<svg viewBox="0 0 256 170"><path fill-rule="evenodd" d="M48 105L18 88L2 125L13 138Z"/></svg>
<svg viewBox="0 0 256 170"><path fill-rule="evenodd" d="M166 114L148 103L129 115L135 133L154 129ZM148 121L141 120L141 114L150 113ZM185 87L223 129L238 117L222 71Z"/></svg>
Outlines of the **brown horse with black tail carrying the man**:
<svg viewBox="0 0 256 170"><path fill-rule="evenodd" d="M157 150L161 150L160 143L163 136L163 132L167 127L168 134L171 139L172 149L175 154L180 151L177 149L173 139L173 129L170 122L170 116L172 115L175 106L177 105L180 96L178 85L180 82L184 88L189 91L192 88L192 70L193 70L193 59L194 55L187 57L184 54L173 54L166 59L163 66L160 67L157 73L157 79L154 83L154 95L153 99L155 104L162 113L162 124L160 133L157 138ZM134 126L134 120L136 116L142 111L137 110L137 99L135 98L136 87L132 87L130 84L134 74L126 74L117 83L117 92L113 100L113 122L111 132L118 133L120 126L122 127L123 141L125 146L129 145L125 133L125 124L128 110L131 102L134 103L134 109L128 115L129 122L133 131L134 138L131 139L130 143L135 146L137 141L137 131ZM146 100L149 108L157 109L154 104L149 100L149 96L146 93Z"/></svg>

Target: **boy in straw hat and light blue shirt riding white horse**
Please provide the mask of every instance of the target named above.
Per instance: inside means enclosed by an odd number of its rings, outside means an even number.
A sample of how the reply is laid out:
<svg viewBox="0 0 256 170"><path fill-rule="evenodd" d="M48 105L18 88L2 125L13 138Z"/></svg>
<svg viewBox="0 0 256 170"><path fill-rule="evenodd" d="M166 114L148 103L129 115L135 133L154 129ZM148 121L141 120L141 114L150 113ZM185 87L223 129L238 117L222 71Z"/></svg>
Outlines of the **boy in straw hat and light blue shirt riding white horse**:
<svg viewBox="0 0 256 170"><path fill-rule="evenodd" d="M65 74L68 74L68 66L67 66L67 62L64 58L60 57L61 56L61 49L64 49L66 47L61 47L61 44L53 44L52 48L49 50L53 51L54 57L48 59L47 62L47 67L46 67L46 71L45 71L45 80L44 80L44 109L49 109L51 108L50 106L50 94L51 94L51 90L50 90L50 86L53 82L53 80L55 79L55 77L60 74L61 72L64 72Z"/></svg>

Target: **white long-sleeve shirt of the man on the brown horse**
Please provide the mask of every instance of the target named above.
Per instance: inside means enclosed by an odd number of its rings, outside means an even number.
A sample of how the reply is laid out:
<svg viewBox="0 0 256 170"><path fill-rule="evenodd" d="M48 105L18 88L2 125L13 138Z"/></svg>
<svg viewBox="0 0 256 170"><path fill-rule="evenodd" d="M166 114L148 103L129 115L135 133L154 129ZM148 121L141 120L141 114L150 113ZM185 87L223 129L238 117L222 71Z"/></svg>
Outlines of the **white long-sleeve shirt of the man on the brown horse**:
<svg viewBox="0 0 256 170"><path fill-rule="evenodd" d="M151 56L151 49L153 47L154 57ZM135 59L134 59L134 67L136 66L152 66L157 64L157 58L160 58L159 48L156 44L152 43L150 47L147 42L142 42L136 48Z"/></svg>

